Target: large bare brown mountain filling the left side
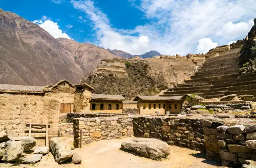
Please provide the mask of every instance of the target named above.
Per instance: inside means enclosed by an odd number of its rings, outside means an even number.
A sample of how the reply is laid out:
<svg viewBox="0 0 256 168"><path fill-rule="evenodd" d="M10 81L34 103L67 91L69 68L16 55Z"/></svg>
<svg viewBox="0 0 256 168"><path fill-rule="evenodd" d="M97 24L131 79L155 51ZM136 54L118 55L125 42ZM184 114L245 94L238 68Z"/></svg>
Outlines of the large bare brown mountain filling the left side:
<svg viewBox="0 0 256 168"><path fill-rule="evenodd" d="M0 83L45 86L83 71L71 52L39 25L0 9Z"/></svg>

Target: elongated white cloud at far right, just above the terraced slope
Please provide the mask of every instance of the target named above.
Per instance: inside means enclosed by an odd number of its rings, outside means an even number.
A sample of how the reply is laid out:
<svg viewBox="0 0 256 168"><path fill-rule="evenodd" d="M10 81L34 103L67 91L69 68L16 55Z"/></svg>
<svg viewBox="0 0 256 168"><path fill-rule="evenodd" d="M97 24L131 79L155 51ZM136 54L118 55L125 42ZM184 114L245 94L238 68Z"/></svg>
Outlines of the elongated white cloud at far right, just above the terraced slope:
<svg viewBox="0 0 256 168"><path fill-rule="evenodd" d="M245 37L253 25L254 25L253 19L248 21L248 23L246 22L233 23L229 21L222 27L222 30L216 33L216 35L224 37L225 39L235 39L241 36Z"/></svg>

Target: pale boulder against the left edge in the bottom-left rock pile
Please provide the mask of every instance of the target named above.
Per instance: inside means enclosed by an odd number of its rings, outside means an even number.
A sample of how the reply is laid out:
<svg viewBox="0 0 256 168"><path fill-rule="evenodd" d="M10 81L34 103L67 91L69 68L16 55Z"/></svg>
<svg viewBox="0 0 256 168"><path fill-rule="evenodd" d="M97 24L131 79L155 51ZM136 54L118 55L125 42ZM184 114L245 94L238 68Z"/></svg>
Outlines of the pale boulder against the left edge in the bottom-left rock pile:
<svg viewBox="0 0 256 168"><path fill-rule="evenodd" d="M23 147L20 141L8 141L0 144L0 158L2 161L16 161L22 156Z"/></svg>

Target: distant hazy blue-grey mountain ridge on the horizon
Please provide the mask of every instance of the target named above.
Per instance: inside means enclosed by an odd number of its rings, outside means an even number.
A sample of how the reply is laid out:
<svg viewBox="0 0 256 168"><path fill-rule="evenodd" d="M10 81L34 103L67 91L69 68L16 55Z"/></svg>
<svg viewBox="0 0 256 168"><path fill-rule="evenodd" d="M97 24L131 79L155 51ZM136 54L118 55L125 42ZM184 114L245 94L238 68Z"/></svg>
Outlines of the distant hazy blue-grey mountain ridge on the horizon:
<svg viewBox="0 0 256 168"><path fill-rule="evenodd" d="M111 49L108 48L106 50L108 50L109 52L111 52L114 55L119 55L120 57L122 57L124 59L130 59L130 58L133 58L133 57L136 57L136 56L139 56L142 59L147 59L147 58L152 58L156 55L161 55L159 52L154 51L154 50L151 50L150 52L146 52L146 53L141 54L141 55L132 55L128 52L125 52L125 51L122 51L122 50L117 50L117 49L111 50Z"/></svg>

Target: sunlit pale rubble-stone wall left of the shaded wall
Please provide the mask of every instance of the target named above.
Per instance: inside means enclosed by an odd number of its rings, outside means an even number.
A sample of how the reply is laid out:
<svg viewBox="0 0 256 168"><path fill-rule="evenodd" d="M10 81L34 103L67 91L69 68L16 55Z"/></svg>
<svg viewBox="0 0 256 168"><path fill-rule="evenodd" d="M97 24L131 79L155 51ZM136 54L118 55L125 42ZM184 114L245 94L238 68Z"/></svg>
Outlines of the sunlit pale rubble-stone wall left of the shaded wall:
<svg viewBox="0 0 256 168"><path fill-rule="evenodd" d="M132 120L127 116L74 119L74 147L80 146L80 129L82 130L82 145L104 139L133 136Z"/></svg>

